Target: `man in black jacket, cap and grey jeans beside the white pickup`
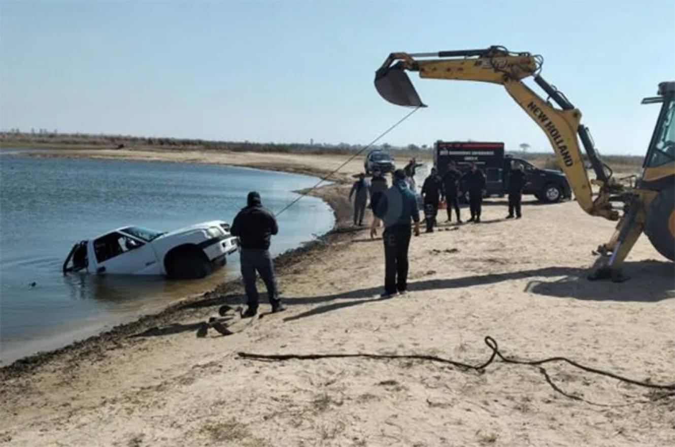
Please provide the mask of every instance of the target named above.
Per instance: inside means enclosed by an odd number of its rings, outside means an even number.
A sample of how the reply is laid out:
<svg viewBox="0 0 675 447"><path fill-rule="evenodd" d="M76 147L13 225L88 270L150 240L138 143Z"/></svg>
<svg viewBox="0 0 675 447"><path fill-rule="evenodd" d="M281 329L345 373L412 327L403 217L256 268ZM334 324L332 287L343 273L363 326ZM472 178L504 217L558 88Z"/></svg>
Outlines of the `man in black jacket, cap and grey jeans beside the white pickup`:
<svg viewBox="0 0 675 447"><path fill-rule="evenodd" d="M242 317L253 317L258 313L256 271L265 282L272 312L285 311L286 306L279 299L277 280L274 277L274 263L269 254L271 236L279 232L277 219L269 209L263 207L258 192L249 192L246 201L248 205L239 211L232 222L232 228L229 229L232 236L238 236L241 248L242 278L244 278L244 288L248 298L248 309L242 313Z"/></svg>

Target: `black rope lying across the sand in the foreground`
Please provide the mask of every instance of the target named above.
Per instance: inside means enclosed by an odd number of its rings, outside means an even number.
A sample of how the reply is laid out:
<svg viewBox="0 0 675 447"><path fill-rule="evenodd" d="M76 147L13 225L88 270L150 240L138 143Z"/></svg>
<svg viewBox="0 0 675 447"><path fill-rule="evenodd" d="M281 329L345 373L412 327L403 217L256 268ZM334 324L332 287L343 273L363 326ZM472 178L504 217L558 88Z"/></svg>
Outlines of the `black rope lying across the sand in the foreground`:
<svg viewBox="0 0 675 447"><path fill-rule="evenodd" d="M475 370L479 371L480 373L485 372L485 368L487 368L491 363L493 363L496 359L499 359L500 361L504 363L510 363L512 365L530 365L530 366L537 366L539 367L539 372L541 372L545 379L546 382L553 388L553 390L556 390L556 392L559 392L563 396L566 396L570 399L574 400L580 400L583 402L587 402L589 404L594 404L594 405L600 405L600 406L612 406L612 405L606 405L606 404L596 404L595 402L590 402L589 400L585 400L584 398L581 398L579 396L574 396L574 394L569 394L561 390L556 384L553 383L553 380L551 377L548 375L547 371L541 367L541 365L544 365L545 363L551 363L551 362L565 362L568 363L569 365L572 365L573 367L576 367L578 369L583 369L583 371L587 371L589 373L594 373L598 375L604 375L606 377L612 377L612 379L619 380L620 382L626 382L628 384L636 385L636 386L642 386L644 388L651 388L653 390L664 390L664 391L672 391L670 393L666 393L661 396L657 396L653 400L657 400L659 398L665 398L668 396L675 396L675 384L671 385L662 385L662 384L652 384L651 382L640 382L639 380L634 380L634 379L629 379L628 377L623 377L618 374L611 373L609 371L603 371L602 369L597 369L597 368L592 368L592 367L587 367L585 365L581 365L580 363L577 363L573 360L567 359L566 357L549 357L547 359L543 360L517 360L517 359L512 359L509 357L504 357L504 354L499 351L499 346L497 345L497 341L490 337L487 336L485 337L485 344L492 350L492 354L490 355L490 358L487 359L485 363L482 363L481 365L468 365L467 363L462 363L450 359L443 359L442 357L437 357L435 355L425 355L425 354L367 354L367 353L356 353L356 354L252 354L249 352L238 352L238 356L240 359L248 359L248 360L255 360L255 361L288 361L288 360L318 360L318 359L350 359L350 358L365 358L365 359L377 359L377 360L389 360L389 359L412 359L412 360L422 360L422 361L431 361L431 362L437 362L437 363L445 363L446 365L452 365L454 367L458 367L460 369L466 369L466 370Z"/></svg>

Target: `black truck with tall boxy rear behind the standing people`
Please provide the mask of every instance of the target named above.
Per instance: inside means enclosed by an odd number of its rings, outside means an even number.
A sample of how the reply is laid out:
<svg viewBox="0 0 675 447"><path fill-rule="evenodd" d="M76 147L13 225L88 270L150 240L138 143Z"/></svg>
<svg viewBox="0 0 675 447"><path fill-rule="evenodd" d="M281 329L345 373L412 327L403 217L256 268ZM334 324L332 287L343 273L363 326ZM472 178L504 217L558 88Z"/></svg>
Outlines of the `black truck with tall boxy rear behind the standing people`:
<svg viewBox="0 0 675 447"><path fill-rule="evenodd" d="M525 172L523 194L533 194L539 201L554 203L571 199L572 191L564 174L553 169L539 169L529 161L504 154L503 142L437 141L433 147L433 162L442 176L448 163L454 161L466 172L471 163L485 173L487 196L504 196L508 191L508 174L512 164L521 165ZM463 189L460 186L460 189Z"/></svg>

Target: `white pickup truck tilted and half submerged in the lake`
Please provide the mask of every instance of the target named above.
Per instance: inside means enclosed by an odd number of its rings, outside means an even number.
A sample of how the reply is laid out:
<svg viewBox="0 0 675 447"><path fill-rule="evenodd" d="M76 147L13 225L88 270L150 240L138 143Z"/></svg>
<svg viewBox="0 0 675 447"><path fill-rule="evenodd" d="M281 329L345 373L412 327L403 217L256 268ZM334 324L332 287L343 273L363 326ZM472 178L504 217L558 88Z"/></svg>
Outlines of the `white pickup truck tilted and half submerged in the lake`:
<svg viewBox="0 0 675 447"><path fill-rule="evenodd" d="M234 253L237 246L237 238L221 220L196 223L172 232L128 226L75 244L63 262L63 273L203 278L225 265L227 255Z"/></svg>

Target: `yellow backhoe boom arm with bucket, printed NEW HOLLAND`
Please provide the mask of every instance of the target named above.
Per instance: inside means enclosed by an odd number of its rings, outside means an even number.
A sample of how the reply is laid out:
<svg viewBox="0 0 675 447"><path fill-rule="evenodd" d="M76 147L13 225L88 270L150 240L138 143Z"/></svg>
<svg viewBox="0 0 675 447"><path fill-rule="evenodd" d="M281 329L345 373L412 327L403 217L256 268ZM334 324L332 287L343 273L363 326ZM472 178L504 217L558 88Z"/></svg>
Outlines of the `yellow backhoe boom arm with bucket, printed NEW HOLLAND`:
<svg viewBox="0 0 675 447"><path fill-rule="evenodd" d="M502 47L438 53L391 53L376 72L375 87L391 103L425 107L404 70L418 72L421 78L502 84L514 101L546 134L579 205L591 215L618 219L618 211L612 209L610 197L620 192L620 187L607 174L587 128L580 125L581 112L539 76L540 68L540 57L530 53L510 53ZM535 83L560 109L553 107L522 82L529 76L533 76ZM595 171L595 183L600 187L595 199L577 134Z"/></svg>

